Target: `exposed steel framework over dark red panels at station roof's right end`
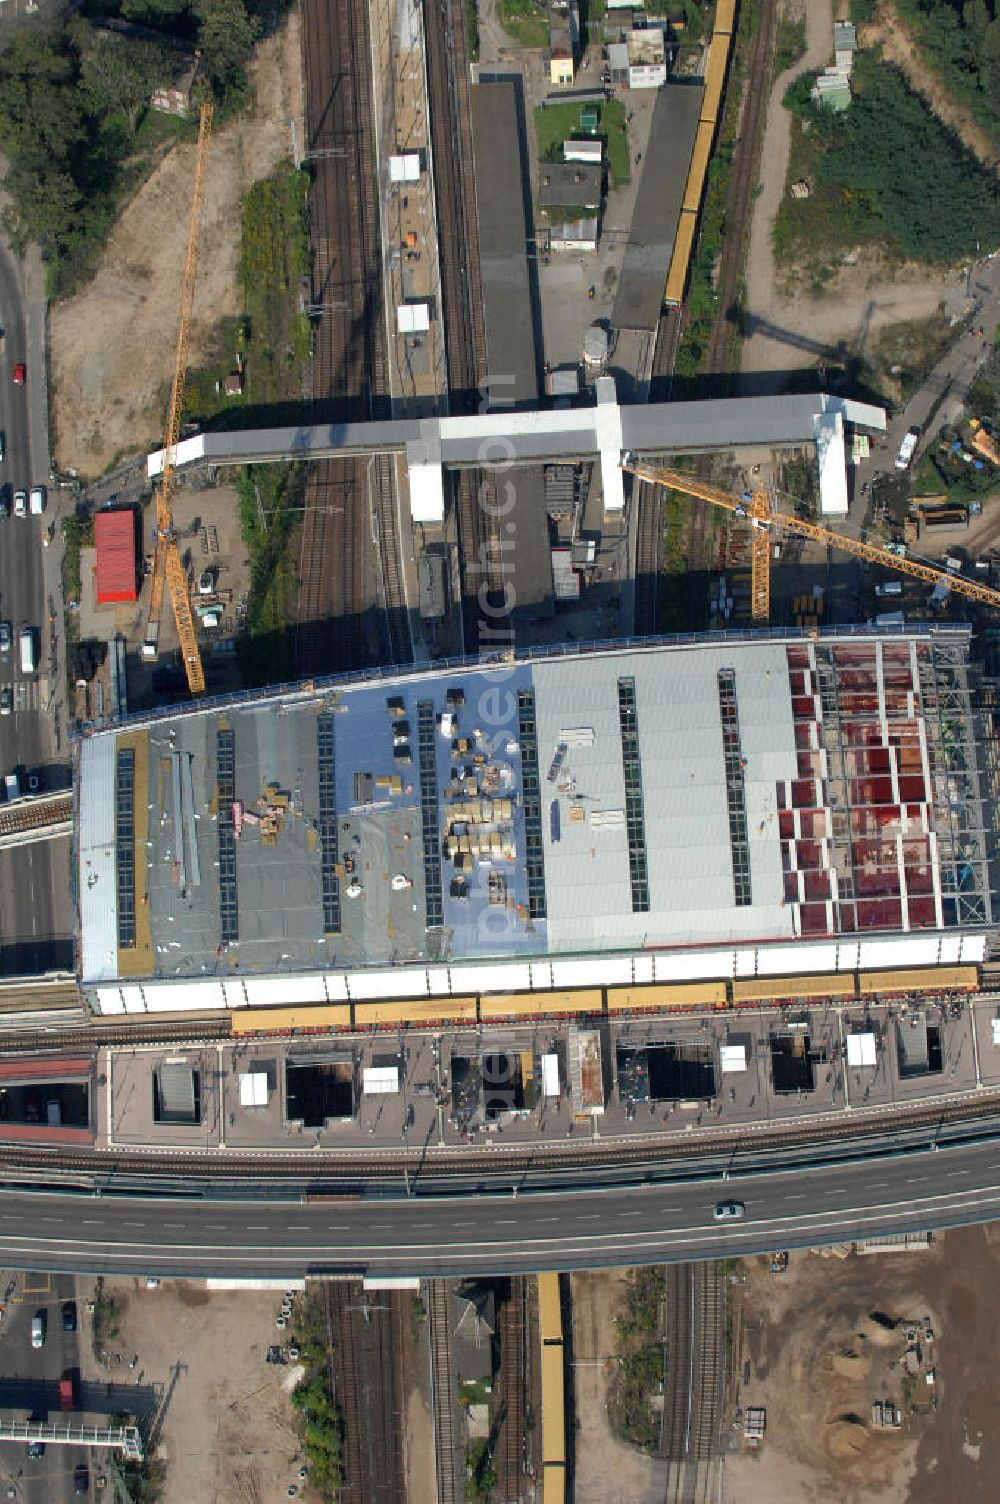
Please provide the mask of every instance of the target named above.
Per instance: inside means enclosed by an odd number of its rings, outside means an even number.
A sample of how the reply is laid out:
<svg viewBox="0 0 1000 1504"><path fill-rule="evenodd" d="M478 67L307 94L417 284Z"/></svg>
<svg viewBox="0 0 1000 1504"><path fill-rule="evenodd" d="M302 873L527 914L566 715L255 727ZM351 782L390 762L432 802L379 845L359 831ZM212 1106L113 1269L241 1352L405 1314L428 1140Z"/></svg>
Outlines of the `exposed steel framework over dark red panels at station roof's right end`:
<svg viewBox="0 0 1000 1504"><path fill-rule="evenodd" d="M803 934L992 923L968 632L789 647L798 779L782 811Z"/></svg>

